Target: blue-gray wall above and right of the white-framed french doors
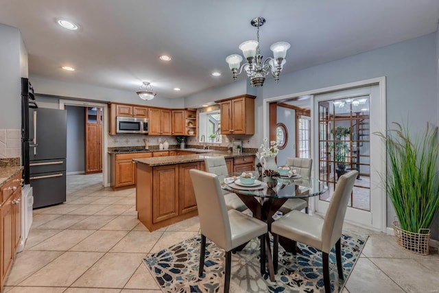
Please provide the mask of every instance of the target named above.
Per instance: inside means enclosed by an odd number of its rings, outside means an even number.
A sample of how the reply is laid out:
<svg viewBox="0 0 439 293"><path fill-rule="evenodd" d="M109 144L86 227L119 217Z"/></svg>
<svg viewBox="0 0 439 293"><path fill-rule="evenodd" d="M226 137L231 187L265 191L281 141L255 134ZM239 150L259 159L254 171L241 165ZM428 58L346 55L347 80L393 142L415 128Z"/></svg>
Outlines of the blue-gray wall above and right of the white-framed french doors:
<svg viewBox="0 0 439 293"><path fill-rule="evenodd" d="M437 38L437 33L428 34L281 75L278 84L266 80L261 89L263 99L385 76L388 127L392 121L408 120L412 133L423 131L427 121L438 125ZM262 111L259 109L257 113ZM257 119L257 124L257 128L262 128L261 119ZM387 226L391 227L395 213L390 200L387 210ZM434 223L434 227L437 226L438 219ZM438 230L431 231L434 239L439 239Z"/></svg>

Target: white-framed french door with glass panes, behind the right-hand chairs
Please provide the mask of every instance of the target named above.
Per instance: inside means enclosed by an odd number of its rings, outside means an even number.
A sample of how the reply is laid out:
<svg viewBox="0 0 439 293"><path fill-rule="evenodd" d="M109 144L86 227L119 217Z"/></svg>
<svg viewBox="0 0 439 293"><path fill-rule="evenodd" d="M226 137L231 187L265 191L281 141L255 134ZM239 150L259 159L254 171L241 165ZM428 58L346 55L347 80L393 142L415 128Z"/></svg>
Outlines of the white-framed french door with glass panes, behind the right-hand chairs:
<svg viewBox="0 0 439 293"><path fill-rule="evenodd" d="M345 219L383 231L385 144L373 134L385 132L383 105L378 85L314 95L314 176L328 185L316 199L318 213L326 213L337 178L357 169Z"/></svg>

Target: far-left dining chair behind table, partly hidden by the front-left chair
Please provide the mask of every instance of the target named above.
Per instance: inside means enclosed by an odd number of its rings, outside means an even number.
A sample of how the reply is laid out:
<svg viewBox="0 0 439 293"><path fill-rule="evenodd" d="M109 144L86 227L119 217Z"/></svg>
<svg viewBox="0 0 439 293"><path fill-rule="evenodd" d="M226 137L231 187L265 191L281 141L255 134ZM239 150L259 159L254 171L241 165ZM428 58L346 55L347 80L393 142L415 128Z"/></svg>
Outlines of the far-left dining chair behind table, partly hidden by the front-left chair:
<svg viewBox="0 0 439 293"><path fill-rule="evenodd" d="M228 170L226 165L226 159L224 156L214 156L204 159L206 165L206 171L216 174L220 182L223 182L224 178L228 176ZM246 204L242 200L231 192L222 191L224 194L224 200L226 200L227 209L236 209L237 211L245 211L247 209Z"/></svg>

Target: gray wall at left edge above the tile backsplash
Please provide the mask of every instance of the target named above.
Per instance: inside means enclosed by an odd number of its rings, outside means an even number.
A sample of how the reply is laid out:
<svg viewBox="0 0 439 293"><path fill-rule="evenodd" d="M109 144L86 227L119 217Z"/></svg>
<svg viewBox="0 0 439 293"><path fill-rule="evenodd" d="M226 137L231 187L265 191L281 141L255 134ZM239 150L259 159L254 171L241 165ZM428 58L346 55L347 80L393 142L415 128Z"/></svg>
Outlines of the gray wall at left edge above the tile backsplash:
<svg viewBox="0 0 439 293"><path fill-rule="evenodd" d="M0 129L21 129L21 80L27 52L19 30L0 24Z"/></svg>

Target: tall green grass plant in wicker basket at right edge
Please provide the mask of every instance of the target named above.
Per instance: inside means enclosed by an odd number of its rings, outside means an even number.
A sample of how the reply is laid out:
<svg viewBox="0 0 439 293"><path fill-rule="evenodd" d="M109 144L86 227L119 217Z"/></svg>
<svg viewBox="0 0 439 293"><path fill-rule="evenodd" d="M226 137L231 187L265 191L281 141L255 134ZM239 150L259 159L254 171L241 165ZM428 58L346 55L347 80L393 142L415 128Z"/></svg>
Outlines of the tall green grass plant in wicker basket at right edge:
<svg viewBox="0 0 439 293"><path fill-rule="evenodd" d="M387 136L388 167L386 189L396 218L396 242L412 253L427 255L430 225L439 207L437 141L438 127L411 137L408 127L394 122Z"/></svg>

